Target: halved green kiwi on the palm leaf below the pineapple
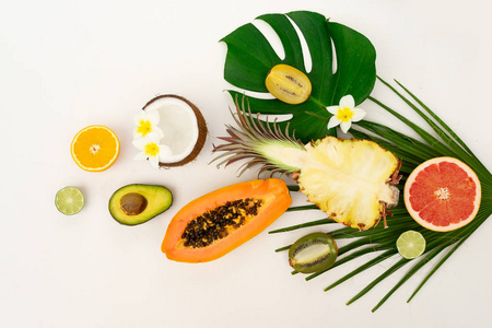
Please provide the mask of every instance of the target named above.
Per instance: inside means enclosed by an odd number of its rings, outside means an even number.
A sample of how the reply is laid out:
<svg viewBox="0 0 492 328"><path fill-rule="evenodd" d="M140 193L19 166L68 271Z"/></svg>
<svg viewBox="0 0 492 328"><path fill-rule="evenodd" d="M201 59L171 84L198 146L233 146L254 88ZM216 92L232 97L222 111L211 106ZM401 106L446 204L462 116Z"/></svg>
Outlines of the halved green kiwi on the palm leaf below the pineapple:
<svg viewBox="0 0 492 328"><path fill-rule="evenodd" d="M289 249L290 265L301 273L314 273L331 267L338 255L333 238L312 233L296 241Z"/></svg>

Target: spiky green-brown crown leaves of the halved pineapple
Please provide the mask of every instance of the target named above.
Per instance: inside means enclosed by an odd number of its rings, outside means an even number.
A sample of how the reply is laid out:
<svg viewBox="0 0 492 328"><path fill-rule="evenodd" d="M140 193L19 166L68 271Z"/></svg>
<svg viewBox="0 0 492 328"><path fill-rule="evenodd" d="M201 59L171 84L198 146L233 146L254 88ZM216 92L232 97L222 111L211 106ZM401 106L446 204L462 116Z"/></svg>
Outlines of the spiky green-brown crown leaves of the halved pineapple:
<svg viewBox="0 0 492 328"><path fill-rule="evenodd" d="M273 176L277 173L291 174L298 171L296 167L286 165L282 159L272 157L266 151L270 144L279 144L280 148L304 151L304 144L301 140L295 139L295 133L292 132L291 136L289 124L282 132L277 124L277 119L272 124L269 124L267 116L266 120L262 121L259 118L260 113L256 113L256 115L251 114L248 99L245 96L243 96L239 104L238 95L236 95L235 107L236 114L231 108L230 110L238 128L226 125L229 137L219 137L220 140L226 143L213 145L212 150L213 153L223 153L213 159L212 162L221 161L216 164L220 167L246 160L238 168L238 176L255 165L261 166L258 171L258 176L266 173L269 176Z"/></svg>

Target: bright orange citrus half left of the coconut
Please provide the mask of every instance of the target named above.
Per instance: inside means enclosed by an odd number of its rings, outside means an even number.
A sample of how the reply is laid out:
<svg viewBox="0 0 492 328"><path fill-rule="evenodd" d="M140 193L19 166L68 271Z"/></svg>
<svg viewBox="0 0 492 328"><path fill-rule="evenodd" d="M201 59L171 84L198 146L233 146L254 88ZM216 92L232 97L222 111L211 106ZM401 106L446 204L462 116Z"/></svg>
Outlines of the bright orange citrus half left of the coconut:
<svg viewBox="0 0 492 328"><path fill-rule="evenodd" d="M73 138L71 154L82 169L104 171L118 159L119 140L115 132L105 126L89 126Z"/></svg>

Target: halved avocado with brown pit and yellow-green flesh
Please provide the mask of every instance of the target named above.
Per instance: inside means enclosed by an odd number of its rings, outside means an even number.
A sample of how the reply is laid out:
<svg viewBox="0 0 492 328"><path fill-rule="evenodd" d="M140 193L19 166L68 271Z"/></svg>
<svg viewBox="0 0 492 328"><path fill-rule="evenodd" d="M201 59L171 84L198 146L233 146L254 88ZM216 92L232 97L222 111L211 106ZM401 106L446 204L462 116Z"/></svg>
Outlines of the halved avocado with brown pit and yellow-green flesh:
<svg viewBox="0 0 492 328"><path fill-rule="evenodd" d="M127 185L109 199L109 213L121 224L137 225L167 210L173 203L169 189L156 185Z"/></svg>

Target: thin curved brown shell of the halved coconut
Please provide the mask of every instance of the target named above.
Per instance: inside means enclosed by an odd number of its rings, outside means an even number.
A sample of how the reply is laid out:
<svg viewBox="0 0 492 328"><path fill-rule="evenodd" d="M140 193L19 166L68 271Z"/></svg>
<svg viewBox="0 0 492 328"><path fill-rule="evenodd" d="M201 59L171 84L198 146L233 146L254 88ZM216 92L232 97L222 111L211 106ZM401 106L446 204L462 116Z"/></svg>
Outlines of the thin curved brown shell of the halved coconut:
<svg viewBox="0 0 492 328"><path fill-rule="evenodd" d="M203 115L201 114L200 109L198 109L198 107L191 103L190 101L188 101L187 98L176 95L176 94L163 94L163 95L159 95L152 99L150 99L145 106L143 106L142 109L145 109L150 104L165 98L165 97L173 97L173 98L177 98L186 104L188 104L191 109L195 113L195 117L197 118L197 124L198 124L198 139L197 139L197 143L195 143L194 150L188 154L188 156L186 156L185 159L183 159L179 162L175 162L175 163L163 163L163 162L159 162L159 166L160 167L164 167L164 168L169 168L169 167L177 167L177 166L183 166L189 162L191 162L192 160L195 160L198 154L200 153L200 151L202 150L206 141L207 141L207 122L204 120Z"/></svg>

